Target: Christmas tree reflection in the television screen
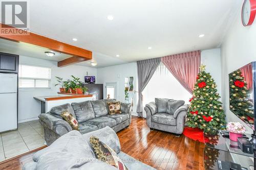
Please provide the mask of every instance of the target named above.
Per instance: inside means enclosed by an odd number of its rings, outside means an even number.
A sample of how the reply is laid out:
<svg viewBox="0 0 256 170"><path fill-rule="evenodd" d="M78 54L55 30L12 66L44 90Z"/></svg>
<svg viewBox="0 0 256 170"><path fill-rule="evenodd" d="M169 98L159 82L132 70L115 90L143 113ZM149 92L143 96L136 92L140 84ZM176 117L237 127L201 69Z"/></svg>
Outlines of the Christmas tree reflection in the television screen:
<svg viewBox="0 0 256 170"><path fill-rule="evenodd" d="M250 90L247 88L247 82L244 81L242 71L238 69L232 72L229 79L230 109L242 119L247 120L248 123L253 124L253 101L250 98Z"/></svg>

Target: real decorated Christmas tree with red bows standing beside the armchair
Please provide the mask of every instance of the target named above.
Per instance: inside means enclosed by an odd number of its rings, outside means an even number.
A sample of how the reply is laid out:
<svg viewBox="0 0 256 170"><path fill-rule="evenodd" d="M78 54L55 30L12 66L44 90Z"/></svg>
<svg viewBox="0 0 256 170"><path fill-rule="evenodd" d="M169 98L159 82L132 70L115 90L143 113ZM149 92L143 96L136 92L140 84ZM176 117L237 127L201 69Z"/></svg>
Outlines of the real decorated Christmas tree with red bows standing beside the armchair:
<svg viewBox="0 0 256 170"><path fill-rule="evenodd" d="M201 65L194 86L193 97L189 100L191 106L187 114L188 127L222 129L223 125L226 124L225 114L216 87L214 79L211 78L209 73L205 72L205 65Z"/></svg>

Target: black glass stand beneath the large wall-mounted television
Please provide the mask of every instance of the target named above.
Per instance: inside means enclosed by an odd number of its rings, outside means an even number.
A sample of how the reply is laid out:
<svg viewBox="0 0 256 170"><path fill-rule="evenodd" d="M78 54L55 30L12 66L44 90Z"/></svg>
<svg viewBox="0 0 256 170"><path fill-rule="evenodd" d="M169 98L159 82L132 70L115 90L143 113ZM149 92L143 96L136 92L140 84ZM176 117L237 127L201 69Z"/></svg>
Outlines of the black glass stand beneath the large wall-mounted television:
<svg viewBox="0 0 256 170"><path fill-rule="evenodd" d="M245 135L245 137L249 136L248 134ZM215 128L205 128L204 141L205 169L218 169L220 166L229 165L230 162L236 163L234 165L241 165L241 169L244 170L255 169L253 160L256 156L242 152L238 147L238 142L223 137L222 131Z"/></svg>

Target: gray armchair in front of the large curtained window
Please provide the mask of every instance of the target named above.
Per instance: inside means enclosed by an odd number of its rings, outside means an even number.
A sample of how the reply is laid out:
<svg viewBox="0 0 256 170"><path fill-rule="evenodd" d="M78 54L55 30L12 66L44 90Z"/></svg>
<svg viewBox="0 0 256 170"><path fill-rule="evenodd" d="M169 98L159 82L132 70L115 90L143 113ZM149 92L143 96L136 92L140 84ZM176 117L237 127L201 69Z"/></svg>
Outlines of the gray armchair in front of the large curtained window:
<svg viewBox="0 0 256 170"><path fill-rule="evenodd" d="M146 124L149 128L182 134L188 106L184 101L156 98L146 104Z"/></svg>

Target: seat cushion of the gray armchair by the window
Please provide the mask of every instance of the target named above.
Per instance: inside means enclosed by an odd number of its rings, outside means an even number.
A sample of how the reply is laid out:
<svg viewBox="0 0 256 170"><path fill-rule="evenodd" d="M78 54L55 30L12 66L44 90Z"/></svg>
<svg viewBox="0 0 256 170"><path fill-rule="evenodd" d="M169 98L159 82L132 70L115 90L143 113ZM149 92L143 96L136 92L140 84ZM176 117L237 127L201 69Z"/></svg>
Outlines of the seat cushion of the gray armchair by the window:
<svg viewBox="0 0 256 170"><path fill-rule="evenodd" d="M176 126L176 118L168 113L156 113L151 116L151 121L158 124Z"/></svg>

